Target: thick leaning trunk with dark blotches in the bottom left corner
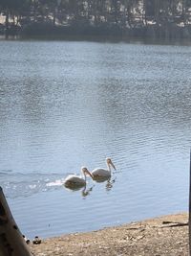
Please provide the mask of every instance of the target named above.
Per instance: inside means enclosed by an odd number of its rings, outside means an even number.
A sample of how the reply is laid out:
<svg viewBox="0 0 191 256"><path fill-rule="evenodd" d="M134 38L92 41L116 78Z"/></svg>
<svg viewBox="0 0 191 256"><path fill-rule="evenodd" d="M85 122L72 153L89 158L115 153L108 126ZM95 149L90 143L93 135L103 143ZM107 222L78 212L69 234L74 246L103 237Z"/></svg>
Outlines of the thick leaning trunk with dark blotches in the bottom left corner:
<svg viewBox="0 0 191 256"><path fill-rule="evenodd" d="M0 187L0 256L32 256Z"/></svg>

